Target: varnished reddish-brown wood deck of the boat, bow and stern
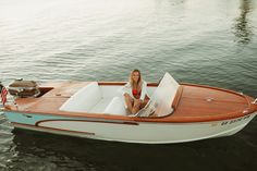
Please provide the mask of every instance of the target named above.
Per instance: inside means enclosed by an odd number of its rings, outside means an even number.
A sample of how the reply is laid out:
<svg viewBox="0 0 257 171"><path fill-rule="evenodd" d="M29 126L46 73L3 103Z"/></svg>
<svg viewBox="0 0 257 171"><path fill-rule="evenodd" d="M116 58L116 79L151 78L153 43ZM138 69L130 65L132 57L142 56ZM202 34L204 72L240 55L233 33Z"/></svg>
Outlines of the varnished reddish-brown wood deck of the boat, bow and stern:
<svg viewBox="0 0 257 171"><path fill-rule="evenodd" d="M63 112L59 110L69 97L87 84L86 82L65 82L42 85L52 89L39 98L19 98L16 99L17 108L10 106L7 110L74 118L87 117L140 122L207 122L243 117L257 110L257 106L250 103L253 101L250 97L231 90L189 84L181 85L180 93L176 95L175 102L172 105L175 107L175 111L163 118L132 118L102 113ZM123 84L99 83L102 86ZM157 86L157 84L149 84L148 86Z"/></svg>

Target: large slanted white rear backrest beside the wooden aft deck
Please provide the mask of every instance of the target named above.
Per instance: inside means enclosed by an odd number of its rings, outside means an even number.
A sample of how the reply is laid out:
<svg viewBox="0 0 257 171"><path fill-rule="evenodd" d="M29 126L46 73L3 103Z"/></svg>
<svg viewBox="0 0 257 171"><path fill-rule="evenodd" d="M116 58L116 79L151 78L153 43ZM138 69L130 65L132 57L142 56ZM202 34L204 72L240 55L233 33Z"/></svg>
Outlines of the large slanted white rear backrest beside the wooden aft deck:
<svg viewBox="0 0 257 171"><path fill-rule="evenodd" d="M102 98L97 82L93 82L71 96L60 108L62 111L87 112Z"/></svg>

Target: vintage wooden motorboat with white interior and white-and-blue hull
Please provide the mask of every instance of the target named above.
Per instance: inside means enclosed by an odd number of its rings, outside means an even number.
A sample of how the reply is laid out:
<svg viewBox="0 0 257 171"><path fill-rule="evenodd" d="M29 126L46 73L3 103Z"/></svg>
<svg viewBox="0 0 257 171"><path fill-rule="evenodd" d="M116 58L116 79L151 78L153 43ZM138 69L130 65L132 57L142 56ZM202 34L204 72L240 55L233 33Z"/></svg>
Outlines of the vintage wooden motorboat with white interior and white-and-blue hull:
<svg viewBox="0 0 257 171"><path fill-rule="evenodd" d="M149 83L150 102L127 114L120 89L125 83L61 82L39 86L37 97L5 105L20 129L94 139L166 144L233 135L257 114L257 100L232 90L178 84L166 74ZM150 110L149 110L150 109Z"/></svg>

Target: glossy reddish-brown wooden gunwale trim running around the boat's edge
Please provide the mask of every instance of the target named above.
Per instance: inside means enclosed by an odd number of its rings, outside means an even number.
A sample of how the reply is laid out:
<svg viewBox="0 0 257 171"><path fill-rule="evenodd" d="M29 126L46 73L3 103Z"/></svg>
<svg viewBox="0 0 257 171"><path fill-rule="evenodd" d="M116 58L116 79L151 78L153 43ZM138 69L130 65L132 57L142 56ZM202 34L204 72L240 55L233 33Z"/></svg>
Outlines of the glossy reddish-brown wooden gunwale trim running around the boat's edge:
<svg viewBox="0 0 257 171"><path fill-rule="evenodd" d="M99 85L124 85L125 83L123 82L99 82ZM158 86L158 83L148 83L148 86ZM188 83L182 83L181 87L185 86L193 86L193 87L203 87L203 88L209 88L209 89L216 89L220 91L225 91L229 94L234 94L236 96L243 97L247 101L247 112L243 111L234 111L225 114L216 114L216 115L205 115L205 117L175 117L175 112L173 114L169 114L167 117L161 117L161 118L133 118L133 117L123 117L123 115L110 115L110 114L103 114L103 113L78 113L78 112L63 112L63 111L33 111L33 110L27 110L27 111L21 111L21 110L15 110L15 108L8 109L5 108L5 111L10 112L19 112L19 113L30 113L30 114L42 114L42 115L58 115L58 117L64 117L64 118L79 118L79 119L103 119L103 120L119 120L119 121L135 121L135 122L156 122L156 123L188 123L188 122L211 122L211 121L220 121L220 120L229 120L229 119L235 119L238 117L244 117L253 113L254 111L257 111L256 105L252 105L250 100L252 98L245 95L241 95L236 91L233 90L228 90L223 88L217 88L217 87L210 87L210 86L205 86L205 85L195 85L195 84L188 84ZM175 102L172 103L174 105L175 108L180 105L181 96L183 94L183 88L180 93L179 97L175 97ZM45 98L51 98L51 97L45 97ZM68 98L68 97L60 97L60 98ZM39 100L40 102L40 100ZM59 109L59 108L58 108ZM245 109L246 110L246 109Z"/></svg>

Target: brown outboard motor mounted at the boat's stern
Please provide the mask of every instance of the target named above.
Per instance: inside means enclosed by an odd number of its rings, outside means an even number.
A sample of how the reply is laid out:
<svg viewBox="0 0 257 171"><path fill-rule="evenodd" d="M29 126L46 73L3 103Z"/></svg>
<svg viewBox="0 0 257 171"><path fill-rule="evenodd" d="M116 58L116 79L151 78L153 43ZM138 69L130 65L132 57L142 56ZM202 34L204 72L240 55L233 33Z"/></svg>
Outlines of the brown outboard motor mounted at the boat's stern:
<svg viewBox="0 0 257 171"><path fill-rule="evenodd" d="M16 97L37 97L40 95L39 86L34 81L15 80L8 87L11 95Z"/></svg>

